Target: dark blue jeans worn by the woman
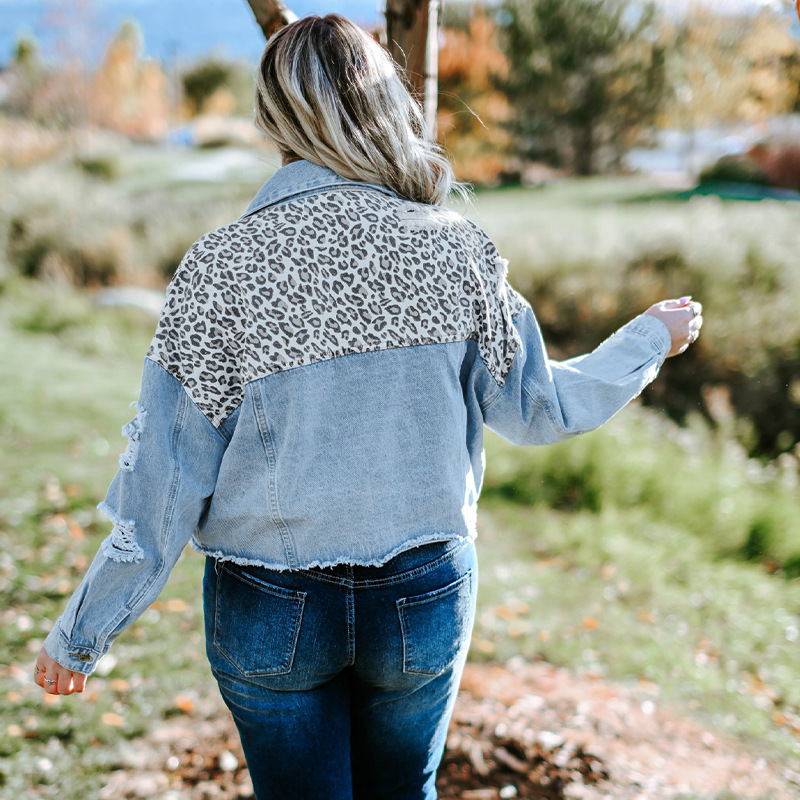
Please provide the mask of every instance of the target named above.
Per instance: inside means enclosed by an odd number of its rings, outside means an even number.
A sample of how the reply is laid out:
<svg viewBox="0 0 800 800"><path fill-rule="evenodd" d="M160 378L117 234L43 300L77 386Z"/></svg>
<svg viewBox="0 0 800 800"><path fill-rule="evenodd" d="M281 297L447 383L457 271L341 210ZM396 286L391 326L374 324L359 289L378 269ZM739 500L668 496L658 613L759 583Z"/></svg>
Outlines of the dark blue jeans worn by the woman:
<svg viewBox="0 0 800 800"><path fill-rule="evenodd" d="M258 800L434 800L476 590L457 541L380 567L208 559L206 650Z"/></svg>

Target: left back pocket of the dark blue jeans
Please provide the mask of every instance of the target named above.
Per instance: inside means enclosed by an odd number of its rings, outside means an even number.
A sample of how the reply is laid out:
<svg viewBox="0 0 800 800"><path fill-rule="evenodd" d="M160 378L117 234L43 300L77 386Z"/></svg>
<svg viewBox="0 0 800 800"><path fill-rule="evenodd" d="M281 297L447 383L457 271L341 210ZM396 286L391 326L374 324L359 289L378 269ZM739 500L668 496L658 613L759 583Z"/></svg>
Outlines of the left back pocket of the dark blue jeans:
<svg viewBox="0 0 800 800"><path fill-rule="evenodd" d="M294 662L306 592L273 586L220 564L214 644L242 675L286 675Z"/></svg>

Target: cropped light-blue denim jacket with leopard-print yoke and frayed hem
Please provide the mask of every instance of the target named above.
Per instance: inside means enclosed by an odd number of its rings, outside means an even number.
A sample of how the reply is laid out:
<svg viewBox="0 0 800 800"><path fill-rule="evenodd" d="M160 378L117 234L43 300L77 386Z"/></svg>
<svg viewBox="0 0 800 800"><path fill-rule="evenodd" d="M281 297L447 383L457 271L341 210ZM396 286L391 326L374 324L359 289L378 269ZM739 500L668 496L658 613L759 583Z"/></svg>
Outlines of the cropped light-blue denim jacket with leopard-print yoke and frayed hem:
<svg viewBox="0 0 800 800"><path fill-rule="evenodd" d="M548 358L507 262L464 217L306 161L189 250L144 361L113 524L45 647L89 673L186 543L275 569L383 564L476 535L483 426L516 444L598 427L653 380L639 316Z"/></svg>

